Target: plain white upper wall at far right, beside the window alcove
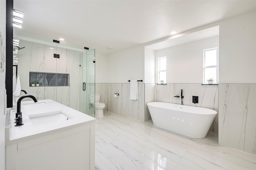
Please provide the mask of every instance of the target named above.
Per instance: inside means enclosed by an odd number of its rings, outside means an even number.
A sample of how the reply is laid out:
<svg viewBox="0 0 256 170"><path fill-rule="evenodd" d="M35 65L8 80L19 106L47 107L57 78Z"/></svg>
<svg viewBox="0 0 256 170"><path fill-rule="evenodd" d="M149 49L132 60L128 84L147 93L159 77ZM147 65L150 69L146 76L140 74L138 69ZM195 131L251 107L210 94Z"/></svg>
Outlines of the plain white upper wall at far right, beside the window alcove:
<svg viewBox="0 0 256 170"><path fill-rule="evenodd" d="M220 22L220 83L256 83L256 11Z"/></svg>

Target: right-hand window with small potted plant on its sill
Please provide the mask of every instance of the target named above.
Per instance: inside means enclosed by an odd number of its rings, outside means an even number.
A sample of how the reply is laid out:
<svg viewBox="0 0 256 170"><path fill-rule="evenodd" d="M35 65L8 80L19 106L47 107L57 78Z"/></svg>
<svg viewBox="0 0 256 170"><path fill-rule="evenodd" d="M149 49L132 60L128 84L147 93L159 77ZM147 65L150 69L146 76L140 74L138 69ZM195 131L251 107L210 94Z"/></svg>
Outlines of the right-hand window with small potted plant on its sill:
<svg viewBox="0 0 256 170"><path fill-rule="evenodd" d="M214 83L218 82L218 57L217 48L204 50L204 83L212 78Z"/></svg>

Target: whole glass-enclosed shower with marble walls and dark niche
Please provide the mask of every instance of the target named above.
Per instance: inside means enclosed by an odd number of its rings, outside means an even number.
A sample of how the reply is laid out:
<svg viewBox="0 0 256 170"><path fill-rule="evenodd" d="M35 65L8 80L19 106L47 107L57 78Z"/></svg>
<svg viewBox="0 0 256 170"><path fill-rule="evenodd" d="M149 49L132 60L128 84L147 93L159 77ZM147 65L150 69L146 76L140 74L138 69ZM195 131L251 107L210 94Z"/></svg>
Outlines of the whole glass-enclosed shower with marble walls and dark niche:
<svg viewBox="0 0 256 170"><path fill-rule="evenodd" d="M38 100L51 99L94 117L94 106L89 101L90 94L95 93L94 49L58 39L60 43L55 43L15 28L14 39L19 44L13 51L13 76L18 68L22 90Z"/></svg>

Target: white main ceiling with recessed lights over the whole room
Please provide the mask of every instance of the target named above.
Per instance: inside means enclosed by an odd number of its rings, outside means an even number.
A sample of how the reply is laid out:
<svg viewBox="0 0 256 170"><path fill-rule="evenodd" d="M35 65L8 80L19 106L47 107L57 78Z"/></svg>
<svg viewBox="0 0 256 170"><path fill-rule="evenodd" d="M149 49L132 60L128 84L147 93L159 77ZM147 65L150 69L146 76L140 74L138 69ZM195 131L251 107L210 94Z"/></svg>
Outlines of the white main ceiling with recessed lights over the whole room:
<svg viewBox="0 0 256 170"><path fill-rule="evenodd" d="M108 55L254 11L256 0L14 0L14 9L24 12L20 31Z"/></svg>

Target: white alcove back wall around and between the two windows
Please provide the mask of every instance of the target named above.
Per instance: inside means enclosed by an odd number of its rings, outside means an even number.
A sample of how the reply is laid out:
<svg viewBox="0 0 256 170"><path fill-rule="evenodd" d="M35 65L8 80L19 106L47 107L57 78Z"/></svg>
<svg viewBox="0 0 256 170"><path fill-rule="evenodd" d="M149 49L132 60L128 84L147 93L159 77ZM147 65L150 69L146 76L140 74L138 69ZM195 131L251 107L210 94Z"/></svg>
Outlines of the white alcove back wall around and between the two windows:
<svg viewBox="0 0 256 170"><path fill-rule="evenodd" d="M166 83L203 83L203 50L214 47L219 47L219 37L157 50L156 70L158 58L166 56Z"/></svg>

